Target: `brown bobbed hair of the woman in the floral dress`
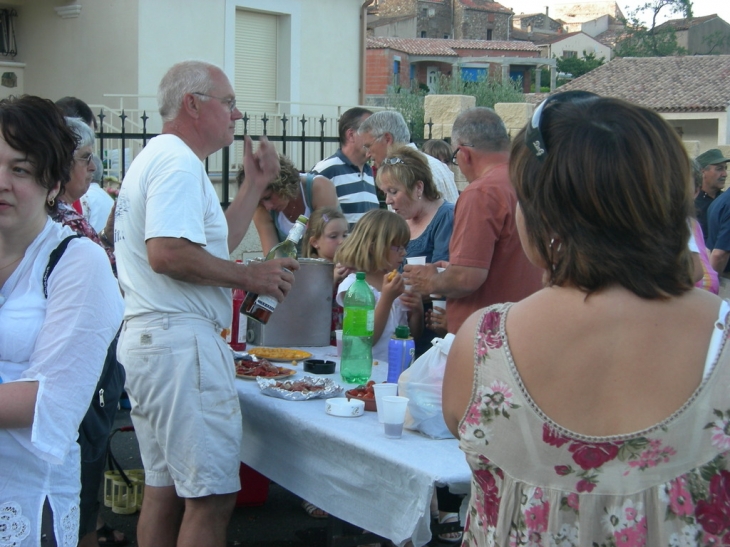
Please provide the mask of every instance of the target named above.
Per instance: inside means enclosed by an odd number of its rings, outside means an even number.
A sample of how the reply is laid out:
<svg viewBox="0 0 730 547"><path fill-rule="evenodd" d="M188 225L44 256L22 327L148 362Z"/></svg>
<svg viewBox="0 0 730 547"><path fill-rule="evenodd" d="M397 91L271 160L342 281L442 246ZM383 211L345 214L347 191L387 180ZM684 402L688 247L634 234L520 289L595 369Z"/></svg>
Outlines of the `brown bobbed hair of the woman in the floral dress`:
<svg viewBox="0 0 730 547"><path fill-rule="evenodd" d="M549 284L588 294L620 285L648 299L690 290L693 192L676 131L655 112L610 98L555 104L540 127L544 162L523 129L510 176L525 243L548 266Z"/></svg>

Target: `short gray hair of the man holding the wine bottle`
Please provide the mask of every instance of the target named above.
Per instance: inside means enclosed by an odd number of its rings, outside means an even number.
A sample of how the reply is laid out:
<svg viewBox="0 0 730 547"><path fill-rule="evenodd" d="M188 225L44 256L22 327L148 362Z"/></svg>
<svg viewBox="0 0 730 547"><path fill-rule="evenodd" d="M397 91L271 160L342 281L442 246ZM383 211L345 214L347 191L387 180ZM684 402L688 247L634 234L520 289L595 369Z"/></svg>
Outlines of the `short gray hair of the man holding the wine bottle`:
<svg viewBox="0 0 730 547"><path fill-rule="evenodd" d="M167 71L157 88L157 106L163 122L177 117L187 93L208 93L212 89L213 70L220 69L204 61L183 61Z"/></svg>

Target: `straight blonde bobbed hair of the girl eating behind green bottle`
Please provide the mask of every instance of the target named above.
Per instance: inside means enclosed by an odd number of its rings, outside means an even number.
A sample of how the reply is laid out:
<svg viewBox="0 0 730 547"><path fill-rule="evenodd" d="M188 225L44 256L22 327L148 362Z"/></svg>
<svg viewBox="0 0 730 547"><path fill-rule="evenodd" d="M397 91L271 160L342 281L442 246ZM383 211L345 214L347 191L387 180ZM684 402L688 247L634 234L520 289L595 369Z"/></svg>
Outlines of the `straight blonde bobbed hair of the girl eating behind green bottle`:
<svg viewBox="0 0 730 547"><path fill-rule="evenodd" d="M410 240L411 230L402 216L387 209L371 209L337 248L334 262L358 272L384 270L389 267L390 246L405 247Z"/></svg>

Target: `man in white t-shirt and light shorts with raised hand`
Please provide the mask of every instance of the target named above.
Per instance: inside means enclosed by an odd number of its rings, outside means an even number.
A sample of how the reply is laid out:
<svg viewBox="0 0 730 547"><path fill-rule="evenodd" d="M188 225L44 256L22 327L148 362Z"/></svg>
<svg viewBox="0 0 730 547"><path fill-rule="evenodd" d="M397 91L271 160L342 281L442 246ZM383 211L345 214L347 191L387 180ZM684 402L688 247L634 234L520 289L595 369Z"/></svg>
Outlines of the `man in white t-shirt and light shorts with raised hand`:
<svg viewBox="0 0 730 547"><path fill-rule="evenodd" d="M248 184L224 214L203 161L233 142L241 112L230 81L198 61L173 66L158 91L162 134L135 158L117 200L114 239L124 290L117 356L127 371L145 468L142 546L223 547L240 489L240 406L231 289L282 300L298 263L229 260L279 171L264 139L245 142ZM236 426L239 424L239 426Z"/></svg>

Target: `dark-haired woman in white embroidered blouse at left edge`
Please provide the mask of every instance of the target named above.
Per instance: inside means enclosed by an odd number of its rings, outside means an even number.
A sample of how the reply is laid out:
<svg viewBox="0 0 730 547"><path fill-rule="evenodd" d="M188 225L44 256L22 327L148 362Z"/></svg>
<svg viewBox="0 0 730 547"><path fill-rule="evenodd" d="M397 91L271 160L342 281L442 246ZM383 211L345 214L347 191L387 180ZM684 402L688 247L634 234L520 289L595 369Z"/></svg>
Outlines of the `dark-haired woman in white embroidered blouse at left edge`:
<svg viewBox="0 0 730 547"><path fill-rule="evenodd" d="M75 546L79 424L122 299L104 251L48 213L76 148L55 105L0 101L0 543ZM42 543L42 530L45 542Z"/></svg>

